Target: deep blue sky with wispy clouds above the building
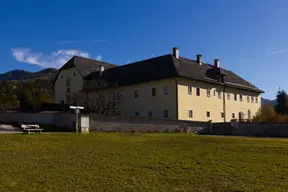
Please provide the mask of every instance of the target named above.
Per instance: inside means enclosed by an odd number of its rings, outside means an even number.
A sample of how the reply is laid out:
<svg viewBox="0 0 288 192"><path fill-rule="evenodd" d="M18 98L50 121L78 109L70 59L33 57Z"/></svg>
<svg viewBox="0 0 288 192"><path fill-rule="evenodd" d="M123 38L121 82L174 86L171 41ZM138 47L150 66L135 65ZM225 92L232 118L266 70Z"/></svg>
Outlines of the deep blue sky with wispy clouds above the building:
<svg viewBox="0 0 288 192"><path fill-rule="evenodd" d="M286 0L3 0L0 72L60 67L73 54L126 64L203 55L275 98L288 91Z"/></svg>

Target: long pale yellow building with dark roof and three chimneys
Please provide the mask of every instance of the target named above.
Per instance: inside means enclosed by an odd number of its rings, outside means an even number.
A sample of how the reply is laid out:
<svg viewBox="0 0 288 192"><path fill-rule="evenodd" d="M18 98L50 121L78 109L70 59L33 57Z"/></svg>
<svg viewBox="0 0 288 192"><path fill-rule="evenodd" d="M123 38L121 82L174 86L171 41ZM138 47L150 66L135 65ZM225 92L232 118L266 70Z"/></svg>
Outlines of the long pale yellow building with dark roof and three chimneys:
<svg viewBox="0 0 288 192"><path fill-rule="evenodd" d="M70 103L84 81L117 82L122 101L117 114L191 121L251 119L261 107L262 90L214 64L173 54L117 66L74 56L54 81L55 103ZM114 110L115 112L115 110Z"/></svg>

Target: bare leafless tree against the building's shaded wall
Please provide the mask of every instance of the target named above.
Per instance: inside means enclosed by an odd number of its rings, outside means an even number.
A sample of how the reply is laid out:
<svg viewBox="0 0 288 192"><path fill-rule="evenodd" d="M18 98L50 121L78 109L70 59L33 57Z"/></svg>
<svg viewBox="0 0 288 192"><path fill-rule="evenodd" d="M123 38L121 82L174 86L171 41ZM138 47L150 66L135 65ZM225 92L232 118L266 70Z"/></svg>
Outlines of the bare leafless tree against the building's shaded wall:
<svg viewBox="0 0 288 192"><path fill-rule="evenodd" d="M117 106L123 102L118 84L113 81L85 80L79 94L79 103L92 113L116 114ZM75 100L74 100L75 103Z"/></svg>

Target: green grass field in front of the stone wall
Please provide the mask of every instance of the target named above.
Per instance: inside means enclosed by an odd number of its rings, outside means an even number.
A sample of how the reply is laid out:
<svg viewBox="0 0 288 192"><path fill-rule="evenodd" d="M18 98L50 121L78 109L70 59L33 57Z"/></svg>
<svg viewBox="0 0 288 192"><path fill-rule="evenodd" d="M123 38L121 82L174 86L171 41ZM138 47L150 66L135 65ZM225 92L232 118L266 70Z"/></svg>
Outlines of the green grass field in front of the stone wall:
<svg viewBox="0 0 288 192"><path fill-rule="evenodd" d="M288 140L0 135L0 191L287 191Z"/></svg>

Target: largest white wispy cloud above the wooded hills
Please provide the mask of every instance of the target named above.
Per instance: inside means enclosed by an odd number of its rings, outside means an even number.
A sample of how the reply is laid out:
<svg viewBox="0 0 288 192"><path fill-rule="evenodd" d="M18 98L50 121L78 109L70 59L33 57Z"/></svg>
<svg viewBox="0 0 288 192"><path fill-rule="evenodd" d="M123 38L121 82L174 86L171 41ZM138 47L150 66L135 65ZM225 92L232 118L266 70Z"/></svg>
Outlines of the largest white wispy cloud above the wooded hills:
<svg viewBox="0 0 288 192"><path fill-rule="evenodd" d="M60 68L71 57L78 55L81 57L91 57L88 52L77 49L59 49L55 52L44 54L42 52L33 52L29 48L13 48L11 49L13 57L20 62L39 65L43 68L53 67ZM102 55L94 56L98 60L102 59Z"/></svg>

